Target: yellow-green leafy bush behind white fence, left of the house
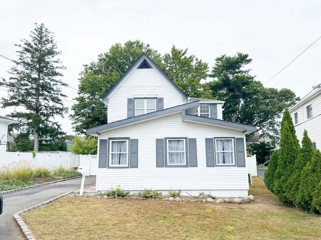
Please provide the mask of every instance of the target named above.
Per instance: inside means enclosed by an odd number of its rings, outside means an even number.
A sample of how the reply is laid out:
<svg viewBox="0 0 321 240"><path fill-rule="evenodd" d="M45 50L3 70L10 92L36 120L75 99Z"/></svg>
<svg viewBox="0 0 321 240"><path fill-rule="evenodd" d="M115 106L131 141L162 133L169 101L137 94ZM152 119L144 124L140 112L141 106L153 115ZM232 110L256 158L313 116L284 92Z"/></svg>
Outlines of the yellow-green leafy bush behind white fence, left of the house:
<svg viewBox="0 0 321 240"><path fill-rule="evenodd" d="M71 152L75 154L97 154L97 137L75 136L72 139Z"/></svg>

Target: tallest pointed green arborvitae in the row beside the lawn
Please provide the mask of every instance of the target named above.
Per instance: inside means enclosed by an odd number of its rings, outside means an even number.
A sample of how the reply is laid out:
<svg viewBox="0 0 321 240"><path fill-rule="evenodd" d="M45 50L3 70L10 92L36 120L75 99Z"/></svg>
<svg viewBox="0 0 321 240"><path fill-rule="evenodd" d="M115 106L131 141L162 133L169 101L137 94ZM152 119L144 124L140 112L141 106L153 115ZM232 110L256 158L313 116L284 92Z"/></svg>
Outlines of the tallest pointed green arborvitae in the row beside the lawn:
<svg viewBox="0 0 321 240"><path fill-rule="evenodd" d="M274 174L273 192L282 203L287 205L293 204L286 195L286 192L290 190L286 183L292 175L298 150L299 144L295 135L293 121L289 111L285 109L281 121L280 149L278 152L278 165Z"/></svg>

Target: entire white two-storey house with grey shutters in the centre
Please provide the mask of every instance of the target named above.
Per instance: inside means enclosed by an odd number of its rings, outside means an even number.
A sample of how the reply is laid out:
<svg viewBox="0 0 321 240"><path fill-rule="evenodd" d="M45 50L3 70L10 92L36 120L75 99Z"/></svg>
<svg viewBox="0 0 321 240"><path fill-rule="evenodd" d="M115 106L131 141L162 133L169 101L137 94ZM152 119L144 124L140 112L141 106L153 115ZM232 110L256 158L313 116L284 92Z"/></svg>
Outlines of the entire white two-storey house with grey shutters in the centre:
<svg viewBox="0 0 321 240"><path fill-rule="evenodd" d="M143 53L102 98L107 124L98 136L96 190L120 185L246 196L249 126L222 120L224 101L187 97Z"/></svg>

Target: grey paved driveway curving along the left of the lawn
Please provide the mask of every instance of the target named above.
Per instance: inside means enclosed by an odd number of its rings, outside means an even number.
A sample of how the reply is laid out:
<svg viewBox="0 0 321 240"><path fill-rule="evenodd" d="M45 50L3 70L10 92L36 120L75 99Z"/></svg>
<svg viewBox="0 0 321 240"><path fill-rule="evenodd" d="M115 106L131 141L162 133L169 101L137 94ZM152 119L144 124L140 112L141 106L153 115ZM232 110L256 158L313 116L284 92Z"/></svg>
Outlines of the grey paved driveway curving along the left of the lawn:
<svg viewBox="0 0 321 240"><path fill-rule="evenodd" d="M85 187L93 185L95 182L96 176L86 176ZM80 184L81 177L77 177L3 194L4 212L0 215L0 240L25 240L26 238L13 215L69 191L76 191L80 188Z"/></svg>

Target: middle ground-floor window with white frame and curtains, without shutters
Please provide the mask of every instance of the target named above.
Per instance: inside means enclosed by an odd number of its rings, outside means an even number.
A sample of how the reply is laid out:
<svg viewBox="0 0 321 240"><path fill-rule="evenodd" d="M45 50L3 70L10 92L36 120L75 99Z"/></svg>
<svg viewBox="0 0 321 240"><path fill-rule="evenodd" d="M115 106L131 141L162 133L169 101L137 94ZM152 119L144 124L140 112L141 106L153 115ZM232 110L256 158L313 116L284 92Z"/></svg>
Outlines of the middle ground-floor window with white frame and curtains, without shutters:
<svg viewBox="0 0 321 240"><path fill-rule="evenodd" d="M167 139L167 164L184 165L186 164L185 138Z"/></svg>

